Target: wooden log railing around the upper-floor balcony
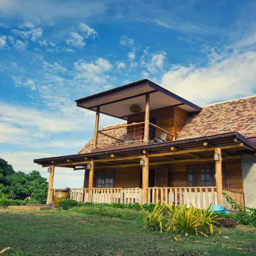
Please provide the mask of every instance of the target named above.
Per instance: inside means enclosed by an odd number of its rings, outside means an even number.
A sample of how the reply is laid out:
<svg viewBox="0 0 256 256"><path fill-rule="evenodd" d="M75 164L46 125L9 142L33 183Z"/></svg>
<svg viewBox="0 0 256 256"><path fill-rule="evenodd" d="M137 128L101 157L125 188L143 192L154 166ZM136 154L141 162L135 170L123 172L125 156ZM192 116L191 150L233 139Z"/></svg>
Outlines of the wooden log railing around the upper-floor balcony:
<svg viewBox="0 0 256 256"><path fill-rule="evenodd" d="M145 122L134 122L98 130L98 136L104 137L104 140L101 140L104 143L98 143L97 148L143 142L144 124ZM162 143L171 141L173 138L174 135L169 131L149 123L148 143Z"/></svg>

